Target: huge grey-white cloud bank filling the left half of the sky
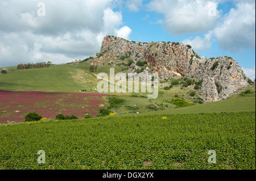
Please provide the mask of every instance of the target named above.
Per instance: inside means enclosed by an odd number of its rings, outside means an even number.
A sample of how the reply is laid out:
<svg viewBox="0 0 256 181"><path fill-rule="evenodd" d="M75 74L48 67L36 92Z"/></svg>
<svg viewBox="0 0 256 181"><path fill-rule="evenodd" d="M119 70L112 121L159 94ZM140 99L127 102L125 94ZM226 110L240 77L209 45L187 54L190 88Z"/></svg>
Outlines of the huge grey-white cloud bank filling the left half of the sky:
<svg viewBox="0 0 256 181"><path fill-rule="evenodd" d="M0 1L0 67L36 61L54 64L100 52L109 33L129 37L115 0L43 1L46 16L38 16L36 0ZM130 28L129 28L130 29Z"/></svg>

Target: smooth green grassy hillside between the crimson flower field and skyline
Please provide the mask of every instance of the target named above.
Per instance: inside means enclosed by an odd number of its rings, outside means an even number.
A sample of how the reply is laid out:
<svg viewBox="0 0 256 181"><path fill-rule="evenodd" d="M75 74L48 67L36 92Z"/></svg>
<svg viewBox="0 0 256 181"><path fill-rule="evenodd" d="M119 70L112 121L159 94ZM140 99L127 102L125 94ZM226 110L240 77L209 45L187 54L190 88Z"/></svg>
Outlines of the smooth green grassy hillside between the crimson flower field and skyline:
<svg viewBox="0 0 256 181"><path fill-rule="evenodd" d="M94 81L94 82L93 82ZM0 76L0 90L79 92L96 88L96 79L82 69L54 66L42 69L15 70ZM89 91L90 92L90 91Z"/></svg>

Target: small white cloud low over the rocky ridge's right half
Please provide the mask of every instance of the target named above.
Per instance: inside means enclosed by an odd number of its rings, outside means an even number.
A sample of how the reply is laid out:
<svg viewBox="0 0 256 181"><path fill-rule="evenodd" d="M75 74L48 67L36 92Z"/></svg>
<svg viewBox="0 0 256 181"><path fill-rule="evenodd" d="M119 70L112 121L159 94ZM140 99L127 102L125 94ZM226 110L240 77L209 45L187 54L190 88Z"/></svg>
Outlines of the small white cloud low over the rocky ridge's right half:
<svg viewBox="0 0 256 181"><path fill-rule="evenodd" d="M212 47L212 32L209 32L204 35L202 39L200 36L196 36L195 39L185 39L181 43L189 44L192 46L193 50L209 50Z"/></svg>

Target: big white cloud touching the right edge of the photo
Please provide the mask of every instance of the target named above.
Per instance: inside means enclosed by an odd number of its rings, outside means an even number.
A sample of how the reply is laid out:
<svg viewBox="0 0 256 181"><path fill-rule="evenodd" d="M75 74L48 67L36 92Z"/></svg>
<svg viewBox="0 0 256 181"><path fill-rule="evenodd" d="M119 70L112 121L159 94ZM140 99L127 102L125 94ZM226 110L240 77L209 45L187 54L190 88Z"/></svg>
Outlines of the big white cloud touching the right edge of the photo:
<svg viewBox="0 0 256 181"><path fill-rule="evenodd" d="M220 48L232 52L255 48L255 1L238 3L214 28Z"/></svg>

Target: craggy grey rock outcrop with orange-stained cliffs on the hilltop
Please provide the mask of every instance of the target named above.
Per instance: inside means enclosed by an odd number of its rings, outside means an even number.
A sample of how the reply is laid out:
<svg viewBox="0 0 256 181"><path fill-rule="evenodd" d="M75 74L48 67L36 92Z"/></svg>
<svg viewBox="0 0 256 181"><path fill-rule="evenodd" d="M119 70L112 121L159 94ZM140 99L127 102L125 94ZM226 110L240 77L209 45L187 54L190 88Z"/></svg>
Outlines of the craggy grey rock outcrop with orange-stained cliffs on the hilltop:
<svg viewBox="0 0 256 181"><path fill-rule="evenodd" d="M192 76L203 79L200 95L205 102L226 99L240 87L249 86L248 78L233 58L200 57L182 43L141 43L106 36L102 41L101 53L104 56L98 60L118 60L122 56L132 59L134 64L130 65L128 72L140 69L136 62L147 61L148 67L158 73L160 79ZM98 64L101 63L98 61Z"/></svg>

